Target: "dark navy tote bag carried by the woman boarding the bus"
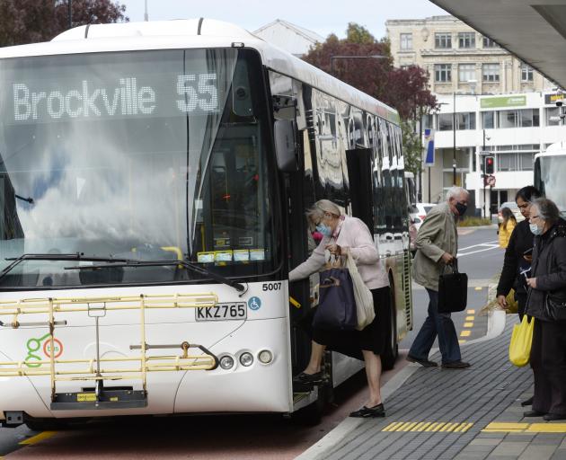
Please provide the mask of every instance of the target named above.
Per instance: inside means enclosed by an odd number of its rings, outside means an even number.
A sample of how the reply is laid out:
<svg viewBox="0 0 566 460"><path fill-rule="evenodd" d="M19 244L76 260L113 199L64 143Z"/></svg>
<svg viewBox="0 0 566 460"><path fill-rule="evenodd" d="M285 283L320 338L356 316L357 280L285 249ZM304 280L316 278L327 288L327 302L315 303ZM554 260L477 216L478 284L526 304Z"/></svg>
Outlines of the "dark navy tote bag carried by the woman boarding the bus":
<svg viewBox="0 0 566 460"><path fill-rule="evenodd" d="M313 327L327 331L354 331L358 326L354 285L348 269L320 274L319 301Z"/></svg>

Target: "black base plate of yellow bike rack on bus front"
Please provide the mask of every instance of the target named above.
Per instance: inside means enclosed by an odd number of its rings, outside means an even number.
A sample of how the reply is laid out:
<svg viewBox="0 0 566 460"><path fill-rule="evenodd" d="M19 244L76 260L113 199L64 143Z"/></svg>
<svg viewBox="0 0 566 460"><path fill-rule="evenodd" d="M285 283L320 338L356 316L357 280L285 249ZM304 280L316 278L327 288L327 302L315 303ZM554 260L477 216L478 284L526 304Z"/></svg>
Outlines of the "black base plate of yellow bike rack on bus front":
<svg viewBox="0 0 566 460"><path fill-rule="evenodd" d="M104 390L98 399L94 392L56 393L51 410L130 409L146 406L147 393L144 390Z"/></svg>

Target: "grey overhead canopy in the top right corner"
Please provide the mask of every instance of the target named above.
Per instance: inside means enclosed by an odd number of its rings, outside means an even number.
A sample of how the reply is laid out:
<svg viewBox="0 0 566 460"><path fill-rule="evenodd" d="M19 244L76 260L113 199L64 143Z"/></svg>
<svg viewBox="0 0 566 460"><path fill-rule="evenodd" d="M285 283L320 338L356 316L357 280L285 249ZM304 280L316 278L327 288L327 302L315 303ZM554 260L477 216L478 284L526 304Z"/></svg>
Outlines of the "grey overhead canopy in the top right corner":
<svg viewBox="0 0 566 460"><path fill-rule="evenodd" d="M566 0L430 0L566 88Z"/></svg>

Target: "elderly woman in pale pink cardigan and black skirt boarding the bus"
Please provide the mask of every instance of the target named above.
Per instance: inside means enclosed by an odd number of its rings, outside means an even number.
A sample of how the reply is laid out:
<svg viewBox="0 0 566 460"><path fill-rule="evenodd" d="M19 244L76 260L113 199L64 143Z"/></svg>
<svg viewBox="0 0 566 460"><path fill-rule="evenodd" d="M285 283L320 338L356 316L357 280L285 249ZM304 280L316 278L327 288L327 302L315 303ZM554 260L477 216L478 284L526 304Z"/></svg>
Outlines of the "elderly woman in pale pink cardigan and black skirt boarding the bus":
<svg viewBox="0 0 566 460"><path fill-rule="evenodd" d="M328 199L314 203L314 207L307 212L307 217L316 226L317 231L323 234L323 240L305 262L289 273L289 281L305 279L323 270L326 252L339 256L349 254L373 295L376 319L362 331L329 332L314 329L310 362L304 372L295 377L295 381L315 385L323 380L321 362L327 347L339 350L355 349L358 352L361 350L366 362L369 399L364 407L350 413L350 417L384 417L385 408L380 392L380 356L385 352L389 334L390 292L389 279L379 261L376 244L366 224L356 217L344 216L340 208ZM358 353L348 354L354 356Z"/></svg>

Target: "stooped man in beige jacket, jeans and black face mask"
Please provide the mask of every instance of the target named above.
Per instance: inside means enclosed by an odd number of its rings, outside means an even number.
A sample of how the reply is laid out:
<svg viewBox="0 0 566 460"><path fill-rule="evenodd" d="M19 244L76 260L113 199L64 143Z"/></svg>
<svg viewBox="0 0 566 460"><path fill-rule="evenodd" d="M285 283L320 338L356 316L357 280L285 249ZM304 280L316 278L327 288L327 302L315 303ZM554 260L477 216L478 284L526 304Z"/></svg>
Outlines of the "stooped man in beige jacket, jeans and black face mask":
<svg viewBox="0 0 566 460"><path fill-rule="evenodd" d="M469 363L462 361L458 336L450 314L438 313L438 279L446 265L455 260L458 252L456 219L464 215L468 198L468 191L462 187L448 190L447 201L430 209L415 241L417 253L412 264L413 278L429 293L429 316L412 342L407 360L425 367L438 366L436 362L429 360L429 352L437 335L442 367L470 367Z"/></svg>

